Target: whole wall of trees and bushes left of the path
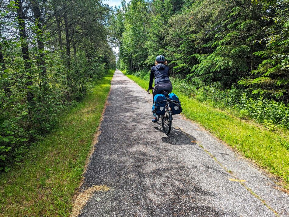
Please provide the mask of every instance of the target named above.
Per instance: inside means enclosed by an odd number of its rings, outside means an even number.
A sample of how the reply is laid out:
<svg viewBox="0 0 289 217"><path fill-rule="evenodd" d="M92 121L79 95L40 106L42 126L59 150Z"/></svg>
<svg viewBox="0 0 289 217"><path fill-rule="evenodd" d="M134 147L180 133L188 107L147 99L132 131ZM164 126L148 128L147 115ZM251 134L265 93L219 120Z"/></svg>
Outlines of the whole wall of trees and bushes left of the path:
<svg viewBox="0 0 289 217"><path fill-rule="evenodd" d="M0 0L0 10L1 173L116 63L101 2Z"/></svg>

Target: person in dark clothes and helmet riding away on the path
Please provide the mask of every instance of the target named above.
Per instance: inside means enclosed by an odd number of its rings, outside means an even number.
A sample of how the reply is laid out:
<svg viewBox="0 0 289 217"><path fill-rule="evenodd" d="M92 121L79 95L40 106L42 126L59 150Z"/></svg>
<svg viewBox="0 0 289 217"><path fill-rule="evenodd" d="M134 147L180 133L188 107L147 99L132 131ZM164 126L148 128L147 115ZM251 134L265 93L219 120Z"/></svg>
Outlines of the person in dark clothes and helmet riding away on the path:
<svg viewBox="0 0 289 217"><path fill-rule="evenodd" d="M155 87L152 87L152 82L155 78ZM150 81L149 81L149 89L153 90L153 97L156 94L161 93L164 90L172 92L172 83L169 80L169 66L167 66L167 61L165 57L159 55L155 58L155 66L151 67ZM154 103L154 102L153 102ZM152 122L158 122L158 116L153 113Z"/></svg>

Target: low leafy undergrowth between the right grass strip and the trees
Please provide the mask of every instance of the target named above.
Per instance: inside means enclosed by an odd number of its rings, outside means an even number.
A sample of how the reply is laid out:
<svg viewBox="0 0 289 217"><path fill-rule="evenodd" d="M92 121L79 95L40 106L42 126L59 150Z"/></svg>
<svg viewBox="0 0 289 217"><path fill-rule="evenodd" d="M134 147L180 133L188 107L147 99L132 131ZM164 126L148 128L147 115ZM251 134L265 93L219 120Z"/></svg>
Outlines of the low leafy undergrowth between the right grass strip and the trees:
<svg viewBox="0 0 289 217"><path fill-rule="evenodd" d="M127 71L144 80L149 80L149 71ZM288 132L289 107L284 103L263 98L248 97L242 90L232 87L223 90L220 85L202 85L196 88L191 82L171 77L174 88L199 102L220 108L244 120L254 120L270 131ZM287 148L289 149L289 147Z"/></svg>

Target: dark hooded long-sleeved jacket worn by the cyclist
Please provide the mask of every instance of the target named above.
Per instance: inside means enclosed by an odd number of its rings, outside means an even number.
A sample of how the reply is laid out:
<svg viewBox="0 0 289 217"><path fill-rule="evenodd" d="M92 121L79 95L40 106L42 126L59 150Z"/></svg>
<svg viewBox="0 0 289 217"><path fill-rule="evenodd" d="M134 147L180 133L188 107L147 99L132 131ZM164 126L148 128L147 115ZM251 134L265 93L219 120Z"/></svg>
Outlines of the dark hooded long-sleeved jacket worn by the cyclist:
<svg viewBox="0 0 289 217"><path fill-rule="evenodd" d="M158 65L151 67L151 74L149 80L149 86L152 86L152 82L155 77L155 85L159 83L171 82L169 80L169 66L166 66L162 63L158 63Z"/></svg>

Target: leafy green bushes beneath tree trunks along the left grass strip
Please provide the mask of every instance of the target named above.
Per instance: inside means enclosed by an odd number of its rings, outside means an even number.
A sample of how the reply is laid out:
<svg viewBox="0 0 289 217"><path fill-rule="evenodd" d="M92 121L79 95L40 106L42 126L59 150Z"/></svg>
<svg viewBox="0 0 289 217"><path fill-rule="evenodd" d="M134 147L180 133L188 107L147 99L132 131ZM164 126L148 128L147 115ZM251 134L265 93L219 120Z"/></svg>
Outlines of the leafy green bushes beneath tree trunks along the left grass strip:
<svg viewBox="0 0 289 217"><path fill-rule="evenodd" d="M63 63L55 54L49 54L47 74L54 80L39 80L40 70L33 65L33 85L23 88L28 78L23 76L23 60L11 61L10 69L5 69L7 76L0 77L0 86L12 83L18 78L11 91L0 89L0 171L8 171L9 165L18 164L27 152L30 143L51 131L58 122L59 112L74 102L80 102L95 86L96 80L106 72L106 63L89 63L83 53L72 61L71 71L64 74ZM53 56L55 55L55 56ZM1 71L0 67L0 72ZM40 75L39 75L40 74ZM69 79L67 79L67 77ZM49 80L50 79L50 80ZM69 88L66 88L68 81ZM41 85L38 85L41 84ZM27 102L27 93L33 92L33 99Z"/></svg>

